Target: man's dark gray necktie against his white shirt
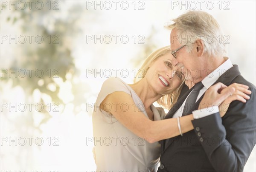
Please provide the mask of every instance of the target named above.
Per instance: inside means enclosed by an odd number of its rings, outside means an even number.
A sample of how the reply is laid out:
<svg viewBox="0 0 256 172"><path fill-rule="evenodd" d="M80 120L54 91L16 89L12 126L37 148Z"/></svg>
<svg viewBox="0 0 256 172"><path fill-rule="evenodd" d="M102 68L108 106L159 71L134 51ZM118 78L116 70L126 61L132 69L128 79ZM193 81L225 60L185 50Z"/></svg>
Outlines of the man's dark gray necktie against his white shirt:
<svg viewBox="0 0 256 172"><path fill-rule="evenodd" d="M189 94L188 98L186 99L186 103L183 109L183 113L182 116L188 115L188 113L190 112L190 110L192 108L196 108L195 107L195 101L198 97L199 91L204 87L204 85L202 84L202 82L198 82L194 89L191 91L191 93Z"/></svg>

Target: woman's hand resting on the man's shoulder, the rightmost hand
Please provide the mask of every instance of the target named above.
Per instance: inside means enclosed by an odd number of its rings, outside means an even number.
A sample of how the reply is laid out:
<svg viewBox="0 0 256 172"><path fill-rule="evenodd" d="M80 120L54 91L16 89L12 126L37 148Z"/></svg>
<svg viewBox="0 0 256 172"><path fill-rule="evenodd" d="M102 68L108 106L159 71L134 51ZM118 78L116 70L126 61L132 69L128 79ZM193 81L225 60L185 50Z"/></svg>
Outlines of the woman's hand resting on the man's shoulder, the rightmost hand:
<svg viewBox="0 0 256 172"><path fill-rule="evenodd" d="M247 85L233 83L227 88L231 88L231 87L235 88L235 91L219 105L219 111L220 111L221 117L223 117L226 114L227 109L231 102L235 100L239 100L245 103L246 100L250 99L250 96L248 96L247 94L252 93L250 90L248 90L249 87ZM227 88L224 88L222 91L225 91L225 89Z"/></svg>

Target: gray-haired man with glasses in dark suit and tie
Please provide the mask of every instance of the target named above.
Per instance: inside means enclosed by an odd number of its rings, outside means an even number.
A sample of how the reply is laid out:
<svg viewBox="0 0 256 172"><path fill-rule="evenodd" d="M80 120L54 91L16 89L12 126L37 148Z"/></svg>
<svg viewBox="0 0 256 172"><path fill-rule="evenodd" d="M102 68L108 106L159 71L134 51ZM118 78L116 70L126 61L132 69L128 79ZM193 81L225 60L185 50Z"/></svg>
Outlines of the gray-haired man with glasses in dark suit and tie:
<svg viewBox="0 0 256 172"><path fill-rule="evenodd" d="M225 57L226 47L217 21L203 11L189 11L173 20L170 42L173 65L180 66L187 80L195 83L189 89L184 85L181 96L166 118L178 118L193 113L194 130L161 141L158 172L169 171L243 171L256 144L256 88L246 81L237 65ZM221 39L222 38L222 39ZM244 58L244 57L241 57ZM204 98L211 85L241 83L249 86L247 102L234 101L221 118L218 106ZM228 106L228 105L227 105Z"/></svg>

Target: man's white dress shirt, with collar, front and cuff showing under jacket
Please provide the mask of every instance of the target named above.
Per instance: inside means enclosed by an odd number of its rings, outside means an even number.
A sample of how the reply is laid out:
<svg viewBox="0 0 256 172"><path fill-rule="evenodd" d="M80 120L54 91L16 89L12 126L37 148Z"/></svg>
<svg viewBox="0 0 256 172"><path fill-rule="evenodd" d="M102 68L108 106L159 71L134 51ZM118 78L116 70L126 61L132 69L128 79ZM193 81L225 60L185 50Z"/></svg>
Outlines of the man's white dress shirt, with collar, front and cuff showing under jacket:
<svg viewBox="0 0 256 172"><path fill-rule="evenodd" d="M225 73L228 69L233 67L232 62L230 61L229 58L224 57L224 59L227 59L227 60L223 64L221 64L218 68L216 68L211 73L209 73L209 75L207 75L202 80L202 84L204 85L204 87L199 91L196 102L206 92L206 90L209 89L209 87L211 87L212 84L217 81L217 79L223 73ZM210 72L210 70L209 70L209 72ZM176 113L174 114L174 116L172 118L177 118L177 117L182 116L182 112L183 112L183 109L184 109L184 106L185 106L186 99L183 102L183 104L180 106L179 110L176 111ZM204 108L204 109L200 109L200 110L194 110L192 112L192 114L193 114L194 119L198 119L198 118L203 118L205 116L211 115L213 113L217 113L218 111L219 111L218 106L213 106L212 108Z"/></svg>

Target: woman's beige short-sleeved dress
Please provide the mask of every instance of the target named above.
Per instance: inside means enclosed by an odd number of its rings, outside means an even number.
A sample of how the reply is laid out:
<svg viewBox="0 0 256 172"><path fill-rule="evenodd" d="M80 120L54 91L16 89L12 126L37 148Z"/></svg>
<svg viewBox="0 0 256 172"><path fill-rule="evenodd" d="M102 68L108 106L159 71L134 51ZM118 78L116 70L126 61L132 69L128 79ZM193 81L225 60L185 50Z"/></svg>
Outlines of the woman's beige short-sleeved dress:
<svg viewBox="0 0 256 172"><path fill-rule="evenodd" d="M107 79L99 92L93 110L93 137L96 154L96 171L127 171L155 172L160 159L159 142L148 143L124 127L114 116L99 108L108 94L123 91L131 95L137 107L147 114L142 101L134 90L119 78ZM122 99L122 97L120 97ZM134 104L134 106L135 106ZM115 108L115 104L105 104ZM122 110L127 110L127 104L121 104ZM161 120L165 113L163 108L151 105L154 120Z"/></svg>

